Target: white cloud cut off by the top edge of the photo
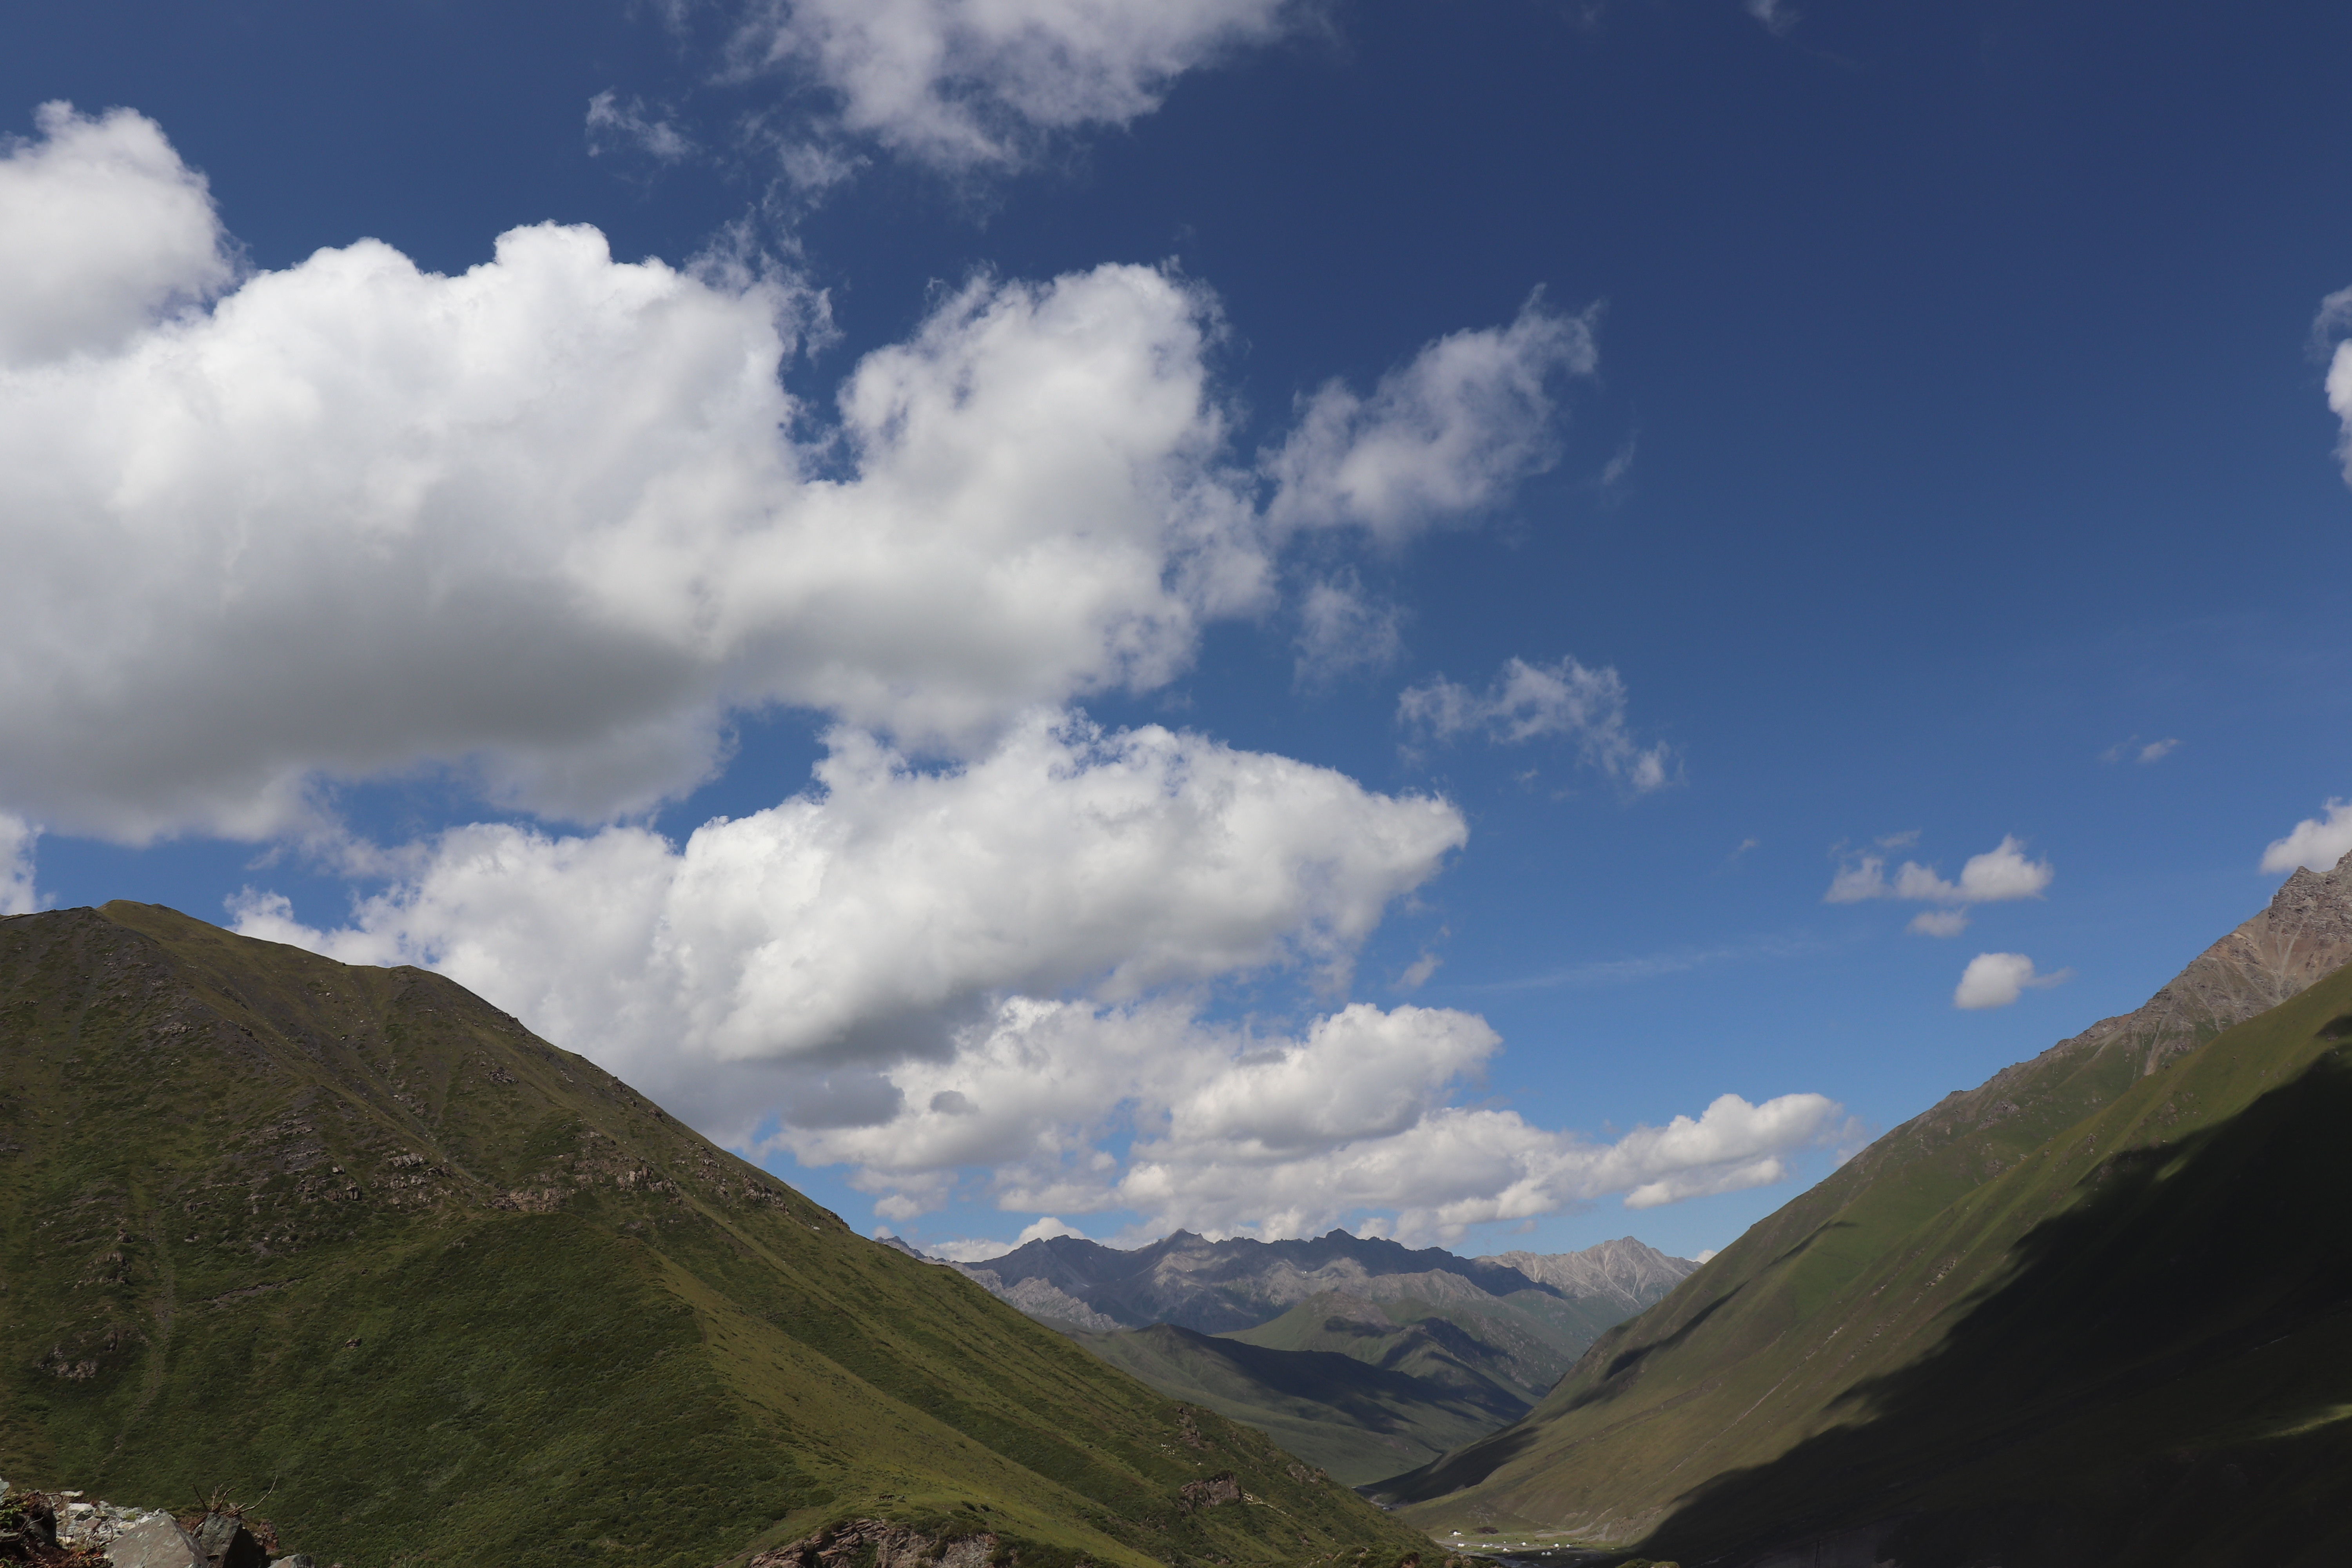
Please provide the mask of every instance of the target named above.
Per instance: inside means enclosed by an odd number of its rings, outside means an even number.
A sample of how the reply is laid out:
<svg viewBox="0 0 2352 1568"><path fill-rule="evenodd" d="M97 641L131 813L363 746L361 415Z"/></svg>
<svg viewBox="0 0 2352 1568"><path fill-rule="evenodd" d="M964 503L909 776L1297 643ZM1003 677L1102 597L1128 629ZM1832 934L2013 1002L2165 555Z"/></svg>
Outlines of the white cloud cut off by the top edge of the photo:
<svg viewBox="0 0 2352 1568"><path fill-rule="evenodd" d="M746 68L814 80L840 129L943 167L1127 125L1178 75L1282 33L1296 0L760 0Z"/></svg>

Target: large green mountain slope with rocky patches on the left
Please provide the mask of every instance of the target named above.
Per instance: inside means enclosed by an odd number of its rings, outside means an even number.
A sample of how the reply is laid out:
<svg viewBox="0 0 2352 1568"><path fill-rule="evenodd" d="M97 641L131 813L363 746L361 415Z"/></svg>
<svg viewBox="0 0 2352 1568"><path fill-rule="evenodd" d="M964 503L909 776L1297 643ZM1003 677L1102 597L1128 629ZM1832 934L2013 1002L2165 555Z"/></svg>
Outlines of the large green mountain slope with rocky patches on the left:
<svg viewBox="0 0 2352 1568"><path fill-rule="evenodd" d="M842 1519L1023 1563L1425 1544L416 969L0 919L0 1105L19 1486L268 1493L350 1568L701 1568Z"/></svg>

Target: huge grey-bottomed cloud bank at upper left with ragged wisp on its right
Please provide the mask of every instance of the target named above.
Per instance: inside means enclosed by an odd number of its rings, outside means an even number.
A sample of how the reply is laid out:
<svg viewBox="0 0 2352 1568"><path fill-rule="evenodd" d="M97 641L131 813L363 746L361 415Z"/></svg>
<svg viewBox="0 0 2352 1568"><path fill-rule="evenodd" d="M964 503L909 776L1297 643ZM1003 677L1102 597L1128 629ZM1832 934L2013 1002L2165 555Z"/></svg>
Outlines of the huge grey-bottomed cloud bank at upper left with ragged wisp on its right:
<svg viewBox="0 0 2352 1568"><path fill-rule="evenodd" d="M769 703L974 755L1263 609L1261 487L1385 529L1491 503L1545 367L1590 353L1541 313L1446 339L1261 477L1214 301L1105 266L950 292L818 421L779 386L804 294L616 263L590 228L510 230L459 277L362 240L158 315L221 282L202 181L136 115L42 125L0 160L0 233L85 179L103 223L66 259L155 242L82 315L42 294L54 259L0 252L0 299L87 341L0 360L0 733L35 738L0 748L0 802L134 842L292 832L320 780L421 766L609 818Z"/></svg>

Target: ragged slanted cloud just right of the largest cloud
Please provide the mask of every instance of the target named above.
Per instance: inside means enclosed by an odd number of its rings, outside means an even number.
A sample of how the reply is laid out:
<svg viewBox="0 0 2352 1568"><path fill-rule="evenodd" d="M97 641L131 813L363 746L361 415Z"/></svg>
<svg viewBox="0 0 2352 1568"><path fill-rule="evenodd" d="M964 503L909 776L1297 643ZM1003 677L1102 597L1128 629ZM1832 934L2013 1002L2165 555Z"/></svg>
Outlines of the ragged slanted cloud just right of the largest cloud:
<svg viewBox="0 0 2352 1568"><path fill-rule="evenodd" d="M1456 331L1381 376L1369 397L1334 381L1265 456L1277 527L1359 527L1402 543L1503 501L1552 465L1552 383L1599 364L1590 315L1531 299L1510 327Z"/></svg>

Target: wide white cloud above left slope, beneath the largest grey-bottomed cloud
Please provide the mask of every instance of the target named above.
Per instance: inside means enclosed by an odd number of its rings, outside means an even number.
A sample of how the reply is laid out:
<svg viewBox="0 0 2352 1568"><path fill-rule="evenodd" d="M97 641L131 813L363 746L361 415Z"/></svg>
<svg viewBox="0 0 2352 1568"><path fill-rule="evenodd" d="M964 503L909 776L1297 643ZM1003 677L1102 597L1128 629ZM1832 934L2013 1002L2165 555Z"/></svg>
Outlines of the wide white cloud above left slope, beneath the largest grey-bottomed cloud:
<svg viewBox="0 0 2352 1568"><path fill-rule="evenodd" d="M1007 992L1117 1004L1284 964L1345 983L1388 903L1465 837L1442 799L1164 729L1035 715L946 771L858 731L830 745L816 790L677 846L456 827L339 931L266 896L240 929L430 964L743 1140L894 1105L875 1070L948 1051ZM736 1086L729 1063L797 1065L802 1088Z"/></svg>

